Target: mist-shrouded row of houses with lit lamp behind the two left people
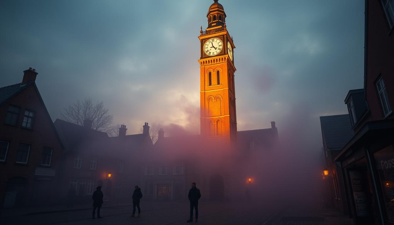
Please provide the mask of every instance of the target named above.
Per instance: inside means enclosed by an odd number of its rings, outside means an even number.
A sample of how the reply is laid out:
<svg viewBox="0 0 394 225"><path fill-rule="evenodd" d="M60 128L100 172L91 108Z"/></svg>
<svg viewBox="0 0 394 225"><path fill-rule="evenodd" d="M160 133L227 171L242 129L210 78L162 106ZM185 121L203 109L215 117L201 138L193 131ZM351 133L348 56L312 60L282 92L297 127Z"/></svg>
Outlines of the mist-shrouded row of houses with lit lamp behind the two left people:
<svg viewBox="0 0 394 225"><path fill-rule="evenodd" d="M119 136L56 119L54 125L65 145L59 193L61 199L74 203L91 201L97 186L102 186L104 201L129 201L134 186L139 184L139 161L152 146L149 126L143 134L126 135L126 126ZM70 193L69 193L70 192Z"/></svg>

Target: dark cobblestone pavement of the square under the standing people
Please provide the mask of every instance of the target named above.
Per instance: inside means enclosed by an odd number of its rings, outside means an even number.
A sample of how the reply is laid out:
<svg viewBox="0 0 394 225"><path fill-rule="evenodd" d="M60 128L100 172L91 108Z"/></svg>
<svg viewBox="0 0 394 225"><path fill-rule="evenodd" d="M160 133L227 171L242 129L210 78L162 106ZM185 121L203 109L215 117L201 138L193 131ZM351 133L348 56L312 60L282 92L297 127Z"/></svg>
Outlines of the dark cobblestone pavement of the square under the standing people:
<svg viewBox="0 0 394 225"><path fill-rule="evenodd" d="M172 225L186 224L188 203L143 203L139 218L130 218L131 206L102 208L102 219L91 219L91 210L59 212L0 218L4 225ZM189 223L190 224L190 223ZM193 222L192 224L196 224ZM350 225L346 217L334 210L284 208L246 203L199 203L199 221L203 225Z"/></svg>

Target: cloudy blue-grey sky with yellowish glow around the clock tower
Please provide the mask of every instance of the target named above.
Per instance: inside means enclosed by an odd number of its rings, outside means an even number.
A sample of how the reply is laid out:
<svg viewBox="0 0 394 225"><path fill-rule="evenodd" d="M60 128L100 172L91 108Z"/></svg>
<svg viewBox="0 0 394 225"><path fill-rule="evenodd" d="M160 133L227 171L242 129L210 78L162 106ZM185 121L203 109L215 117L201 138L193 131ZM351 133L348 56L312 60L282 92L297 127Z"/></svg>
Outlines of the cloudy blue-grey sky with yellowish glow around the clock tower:
<svg viewBox="0 0 394 225"><path fill-rule="evenodd" d="M78 99L103 101L115 124L165 136L199 133L200 26L212 0L0 0L0 86L24 70L52 120ZM238 130L298 134L320 151L319 117L346 114L363 87L364 2L219 0L233 36ZM302 134L302 135L300 135Z"/></svg>

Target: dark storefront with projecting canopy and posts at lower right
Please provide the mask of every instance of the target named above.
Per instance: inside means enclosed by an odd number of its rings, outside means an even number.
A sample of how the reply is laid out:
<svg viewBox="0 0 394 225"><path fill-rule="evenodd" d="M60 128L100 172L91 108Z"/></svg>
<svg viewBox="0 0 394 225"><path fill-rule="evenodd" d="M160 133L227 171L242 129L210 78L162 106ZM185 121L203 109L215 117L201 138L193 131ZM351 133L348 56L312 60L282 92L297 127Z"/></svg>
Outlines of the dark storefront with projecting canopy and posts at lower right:
<svg viewBox="0 0 394 225"><path fill-rule="evenodd" d="M394 224L394 121L368 122L336 156L355 225Z"/></svg>

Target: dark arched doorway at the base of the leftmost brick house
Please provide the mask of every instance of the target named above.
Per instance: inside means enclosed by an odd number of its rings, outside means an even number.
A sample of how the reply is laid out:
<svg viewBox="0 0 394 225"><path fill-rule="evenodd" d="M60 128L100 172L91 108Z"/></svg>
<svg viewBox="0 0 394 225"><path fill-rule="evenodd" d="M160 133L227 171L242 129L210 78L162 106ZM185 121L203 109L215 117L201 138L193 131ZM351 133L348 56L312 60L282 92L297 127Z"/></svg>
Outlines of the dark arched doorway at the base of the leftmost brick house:
<svg viewBox="0 0 394 225"><path fill-rule="evenodd" d="M26 203L26 192L28 179L23 177L12 177L7 180L6 193L4 196L4 208L21 207Z"/></svg>

